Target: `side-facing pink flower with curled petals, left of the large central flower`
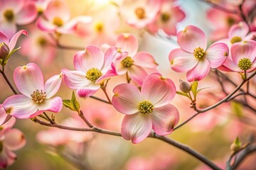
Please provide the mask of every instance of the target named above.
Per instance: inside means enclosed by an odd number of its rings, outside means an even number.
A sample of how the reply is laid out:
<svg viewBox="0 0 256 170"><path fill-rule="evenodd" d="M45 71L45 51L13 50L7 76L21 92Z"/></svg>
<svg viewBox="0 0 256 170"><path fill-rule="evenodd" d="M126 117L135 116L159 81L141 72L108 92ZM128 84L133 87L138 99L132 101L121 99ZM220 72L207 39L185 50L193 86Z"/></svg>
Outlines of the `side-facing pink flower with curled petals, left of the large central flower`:
<svg viewBox="0 0 256 170"><path fill-rule="evenodd" d="M65 84L70 89L78 89L81 98L87 98L100 89L100 84L110 77L117 75L112 61L119 53L117 47L111 47L105 54L93 45L77 52L74 56L76 71L62 69Z"/></svg>

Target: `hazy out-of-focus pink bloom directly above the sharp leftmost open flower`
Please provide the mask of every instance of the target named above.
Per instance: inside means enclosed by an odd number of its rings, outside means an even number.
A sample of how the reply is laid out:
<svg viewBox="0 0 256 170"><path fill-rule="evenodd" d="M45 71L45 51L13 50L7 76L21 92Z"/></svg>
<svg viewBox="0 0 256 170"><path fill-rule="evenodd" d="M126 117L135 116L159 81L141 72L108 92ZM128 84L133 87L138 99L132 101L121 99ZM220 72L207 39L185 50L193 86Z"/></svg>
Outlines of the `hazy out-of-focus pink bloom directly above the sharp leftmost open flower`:
<svg viewBox="0 0 256 170"><path fill-rule="evenodd" d="M31 29L31 34L21 44L23 48L21 48L20 52L25 57L28 57L30 62L46 65L52 62L55 57L56 49L51 46L55 42L53 42L48 34L36 28Z"/></svg>

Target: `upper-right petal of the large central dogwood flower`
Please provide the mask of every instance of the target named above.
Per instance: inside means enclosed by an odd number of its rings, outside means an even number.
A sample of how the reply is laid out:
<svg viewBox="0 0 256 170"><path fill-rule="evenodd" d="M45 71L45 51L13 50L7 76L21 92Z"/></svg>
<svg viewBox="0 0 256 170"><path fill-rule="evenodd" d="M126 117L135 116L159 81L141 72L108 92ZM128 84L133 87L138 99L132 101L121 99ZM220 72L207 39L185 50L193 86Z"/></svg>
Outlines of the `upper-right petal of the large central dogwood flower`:
<svg viewBox="0 0 256 170"><path fill-rule="evenodd" d="M151 101L154 108L164 106L176 95L174 81L165 79L159 73L150 74L143 81L142 95L145 100Z"/></svg>

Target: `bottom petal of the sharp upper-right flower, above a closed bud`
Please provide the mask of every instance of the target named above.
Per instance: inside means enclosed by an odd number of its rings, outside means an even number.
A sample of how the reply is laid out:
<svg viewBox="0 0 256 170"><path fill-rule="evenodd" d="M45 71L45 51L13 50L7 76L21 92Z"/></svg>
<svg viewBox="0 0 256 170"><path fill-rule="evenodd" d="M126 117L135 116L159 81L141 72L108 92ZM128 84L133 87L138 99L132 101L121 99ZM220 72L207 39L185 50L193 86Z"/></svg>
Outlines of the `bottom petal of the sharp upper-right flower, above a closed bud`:
<svg viewBox="0 0 256 170"><path fill-rule="evenodd" d="M196 67L187 72L186 78L189 82L200 81L210 72L210 63L208 60L200 60Z"/></svg>

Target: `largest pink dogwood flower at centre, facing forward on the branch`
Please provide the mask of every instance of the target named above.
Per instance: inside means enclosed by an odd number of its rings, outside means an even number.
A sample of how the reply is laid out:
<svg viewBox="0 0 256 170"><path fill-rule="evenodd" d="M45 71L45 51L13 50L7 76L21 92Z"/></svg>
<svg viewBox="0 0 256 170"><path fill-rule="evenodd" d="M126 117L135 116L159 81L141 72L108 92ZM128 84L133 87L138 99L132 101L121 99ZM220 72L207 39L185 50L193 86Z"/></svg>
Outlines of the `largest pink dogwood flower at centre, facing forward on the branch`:
<svg viewBox="0 0 256 170"><path fill-rule="evenodd" d="M170 104L176 87L159 73L150 74L141 91L133 84L119 84L113 92L114 108L125 114L121 129L125 140L141 142L152 129L158 135L169 135L178 123L178 110Z"/></svg>

